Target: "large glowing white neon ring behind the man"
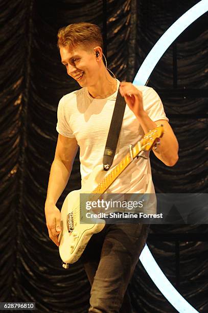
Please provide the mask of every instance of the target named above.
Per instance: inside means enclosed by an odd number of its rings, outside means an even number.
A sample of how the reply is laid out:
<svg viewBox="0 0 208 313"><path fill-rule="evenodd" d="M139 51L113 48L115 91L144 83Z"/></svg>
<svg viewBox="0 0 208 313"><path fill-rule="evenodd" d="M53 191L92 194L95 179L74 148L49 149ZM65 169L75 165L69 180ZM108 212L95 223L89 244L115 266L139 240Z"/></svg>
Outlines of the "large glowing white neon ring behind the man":
<svg viewBox="0 0 208 313"><path fill-rule="evenodd" d="M207 0L201 0L198 4L184 13L178 18L175 23L159 38L155 46L138 70L133 84L145 85L150 74L152 73L155 65L163 56L165 51L170 47L171 43L197 18L204 14L208 10ZM191 304L187 302L174 288L170 281L166 278L164 273L160 270L158 264L153 258L147 244L143 249L140 260L145 267L145 270L158 287L160 292L166 297L166 299L176 308L180 313L196 313L198 312Z"/></svg>

